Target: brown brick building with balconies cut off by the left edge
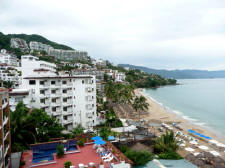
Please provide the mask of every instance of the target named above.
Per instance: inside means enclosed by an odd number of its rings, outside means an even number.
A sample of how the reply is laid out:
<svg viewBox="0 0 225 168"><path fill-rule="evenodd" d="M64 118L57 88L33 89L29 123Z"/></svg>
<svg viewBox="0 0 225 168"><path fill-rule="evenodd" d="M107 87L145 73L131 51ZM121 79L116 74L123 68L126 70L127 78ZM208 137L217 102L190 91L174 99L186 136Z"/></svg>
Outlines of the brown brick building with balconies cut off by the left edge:
<svg viewBox="0 0 225 168"><path fill-rule="evenodd" d="M10 167L11 138L8 91L0 88L0 167Z"/></svg>

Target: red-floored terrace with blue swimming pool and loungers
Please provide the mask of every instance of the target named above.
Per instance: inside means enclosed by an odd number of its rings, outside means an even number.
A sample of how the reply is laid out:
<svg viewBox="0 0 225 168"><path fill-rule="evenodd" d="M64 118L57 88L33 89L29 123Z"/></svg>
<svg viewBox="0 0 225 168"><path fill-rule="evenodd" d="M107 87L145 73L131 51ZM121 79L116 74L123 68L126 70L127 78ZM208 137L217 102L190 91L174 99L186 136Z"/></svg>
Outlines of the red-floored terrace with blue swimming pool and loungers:
<svg viewBox="0 0 225 168"><path fill-rule="evenodd" d="M70 147L68 144L72 144L72 148L69 151L67 150L68 148L66 148L65 155L59 158L56 156L56 146L61 142L62 141L54 141L31 145L31 150L24 152L22 155L21 159L25 161L25 165L22 166L22 168L62 168L66 161L72 162L72 165L75 166L75 168L109 168L110 166L124 168L132 164L132 162L120 153L118 149L116 150L110 142L101 146L113 156L113 159L109 162L103 160L94 148L93 141L91 143L86 143L83 147L79 147L75 140L68 140L63 144L64 148ZM125 162L129 164L126 164Z"/></svg>

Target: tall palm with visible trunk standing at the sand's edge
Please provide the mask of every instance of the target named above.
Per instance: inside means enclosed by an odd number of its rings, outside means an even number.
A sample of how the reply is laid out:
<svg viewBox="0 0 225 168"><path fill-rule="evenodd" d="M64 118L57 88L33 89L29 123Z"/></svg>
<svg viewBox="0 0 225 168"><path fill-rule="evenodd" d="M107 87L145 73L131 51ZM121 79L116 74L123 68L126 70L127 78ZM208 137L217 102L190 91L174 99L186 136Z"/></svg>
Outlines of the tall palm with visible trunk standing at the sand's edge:
<svg viewBox="0 0 225 168"><path fill-rule="evenodd" d="M147 99L144 96L140 96L140 97L135 97L132 107L133 109L137 112L139 111L139 122L140 122L140 117L141 117L141 112L140 110L148 110L148 106L149 104L146 102Z"/></svg>

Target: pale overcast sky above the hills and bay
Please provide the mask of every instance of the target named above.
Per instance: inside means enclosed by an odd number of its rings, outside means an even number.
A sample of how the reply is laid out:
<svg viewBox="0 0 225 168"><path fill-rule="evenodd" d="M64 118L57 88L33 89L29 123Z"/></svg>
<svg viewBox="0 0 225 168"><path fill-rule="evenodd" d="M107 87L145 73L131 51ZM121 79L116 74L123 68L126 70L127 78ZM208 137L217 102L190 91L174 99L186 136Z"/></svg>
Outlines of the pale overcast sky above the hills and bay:
<svg viewBox="0 0 225 168"><path fill-rule="evenodd" d="M0 0L0 31L116 64L225 69L225 0Z"/></svg>

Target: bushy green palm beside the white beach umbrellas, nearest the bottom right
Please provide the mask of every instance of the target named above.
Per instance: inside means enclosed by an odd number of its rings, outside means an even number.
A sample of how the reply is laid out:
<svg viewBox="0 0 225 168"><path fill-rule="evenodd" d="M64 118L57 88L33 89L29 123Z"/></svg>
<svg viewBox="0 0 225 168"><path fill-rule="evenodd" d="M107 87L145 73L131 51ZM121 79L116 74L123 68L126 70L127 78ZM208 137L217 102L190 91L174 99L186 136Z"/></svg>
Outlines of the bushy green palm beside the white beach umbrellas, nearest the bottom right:
<svg viewBox="0 0 225 168"><path fill-rule="evenodd" d="M155 140L154 151L157 153L176 152L179 142L176 140L174 132L166 132Z"/></svg>

